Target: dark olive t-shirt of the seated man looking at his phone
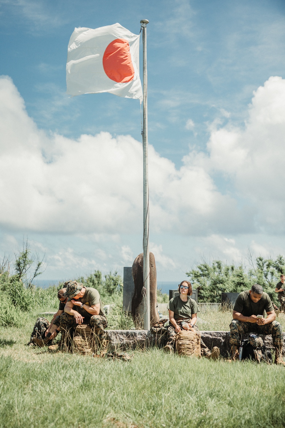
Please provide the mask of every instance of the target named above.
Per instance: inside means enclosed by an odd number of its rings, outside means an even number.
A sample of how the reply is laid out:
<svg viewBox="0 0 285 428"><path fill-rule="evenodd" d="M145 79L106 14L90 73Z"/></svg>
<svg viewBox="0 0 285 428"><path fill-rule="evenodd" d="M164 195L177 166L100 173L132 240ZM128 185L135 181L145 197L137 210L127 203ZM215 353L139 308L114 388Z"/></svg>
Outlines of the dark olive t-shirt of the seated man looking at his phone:
<svg viewBox="0 0 285 428"><path fill-rule="evenodd" d="M240 312L241 315L245 317L250 317L251 315L264 315L264 310L265 312L270 312L273 311L274 308L267 293L263 292L261 294L261 299L254 303L250 297L250 290L247 290L238 294L233 310Z"/></svg>

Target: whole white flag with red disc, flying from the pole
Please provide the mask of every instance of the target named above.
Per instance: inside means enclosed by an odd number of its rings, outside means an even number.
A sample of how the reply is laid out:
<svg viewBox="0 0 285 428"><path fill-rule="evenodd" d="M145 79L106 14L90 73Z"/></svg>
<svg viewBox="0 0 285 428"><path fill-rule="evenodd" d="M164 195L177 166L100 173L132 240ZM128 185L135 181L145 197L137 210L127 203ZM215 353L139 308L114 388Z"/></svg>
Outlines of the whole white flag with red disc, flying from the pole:
<svg viewBox="0 0 285 428"><path fill-rule="evenodd" d="M111 92L141 102L139 38L118 23L75 28L68 44L67 93Z"/></svg>

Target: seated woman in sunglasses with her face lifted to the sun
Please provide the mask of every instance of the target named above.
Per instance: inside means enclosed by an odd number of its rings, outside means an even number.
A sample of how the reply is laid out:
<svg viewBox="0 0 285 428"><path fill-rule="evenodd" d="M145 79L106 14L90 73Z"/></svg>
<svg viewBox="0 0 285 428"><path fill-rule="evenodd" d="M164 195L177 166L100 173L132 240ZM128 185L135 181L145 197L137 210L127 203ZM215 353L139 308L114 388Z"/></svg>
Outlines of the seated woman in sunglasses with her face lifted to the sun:
<svg viewBox="0 0 285 428"><path fill-rule="evenodd" d="M194 299L191 299L192 285L189 281L182 281L178 286L179 296L170 299L167 309L169 312L169 327L167 328L167 344L164 351L172 353L176 333L184 328L189 330L194 328L199 332L196 326L197 312L200 312L198 305ZM220 350L215 346L212 352L206 347L201 339L201 355L202 357L217 359L220 356Z"/></svg>

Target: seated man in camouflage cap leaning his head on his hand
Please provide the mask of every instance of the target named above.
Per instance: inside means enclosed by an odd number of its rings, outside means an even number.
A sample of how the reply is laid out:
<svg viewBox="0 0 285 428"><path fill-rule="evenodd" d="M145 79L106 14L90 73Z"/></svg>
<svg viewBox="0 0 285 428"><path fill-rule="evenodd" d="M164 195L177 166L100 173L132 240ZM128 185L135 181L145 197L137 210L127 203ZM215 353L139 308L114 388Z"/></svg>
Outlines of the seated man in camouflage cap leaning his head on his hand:
<svg viewBox="0 0 285 428"><path fill-rule="evenodd" d="M83 287L76 281L68 282L64 297L68 298L64 313L60 317L60 330L68 337L78 324L89 324L97 335L102 335L107 327L100 294L96 288Z"/></svg>

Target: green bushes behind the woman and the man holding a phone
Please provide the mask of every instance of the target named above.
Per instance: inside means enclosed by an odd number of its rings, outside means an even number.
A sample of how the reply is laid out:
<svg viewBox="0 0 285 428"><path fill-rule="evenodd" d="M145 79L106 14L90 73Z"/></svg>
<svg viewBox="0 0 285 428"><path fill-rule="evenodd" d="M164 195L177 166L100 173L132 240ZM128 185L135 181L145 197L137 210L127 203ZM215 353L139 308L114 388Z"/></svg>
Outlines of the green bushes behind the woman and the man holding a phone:
<svg viewBox="0 0 285 428"><path fill-rule="evenodd" d="M220 260L209 264L204 261L186 274L190 277L193 288L198 290L200 302L220 303L222 292L240 293L257 283L277 303L274 289L280 274L285 272L284 257L279 255L273 260L259 256L254 264L250 255L249 262L250 268L246 269L242 264L227 265Z"/></svg>

